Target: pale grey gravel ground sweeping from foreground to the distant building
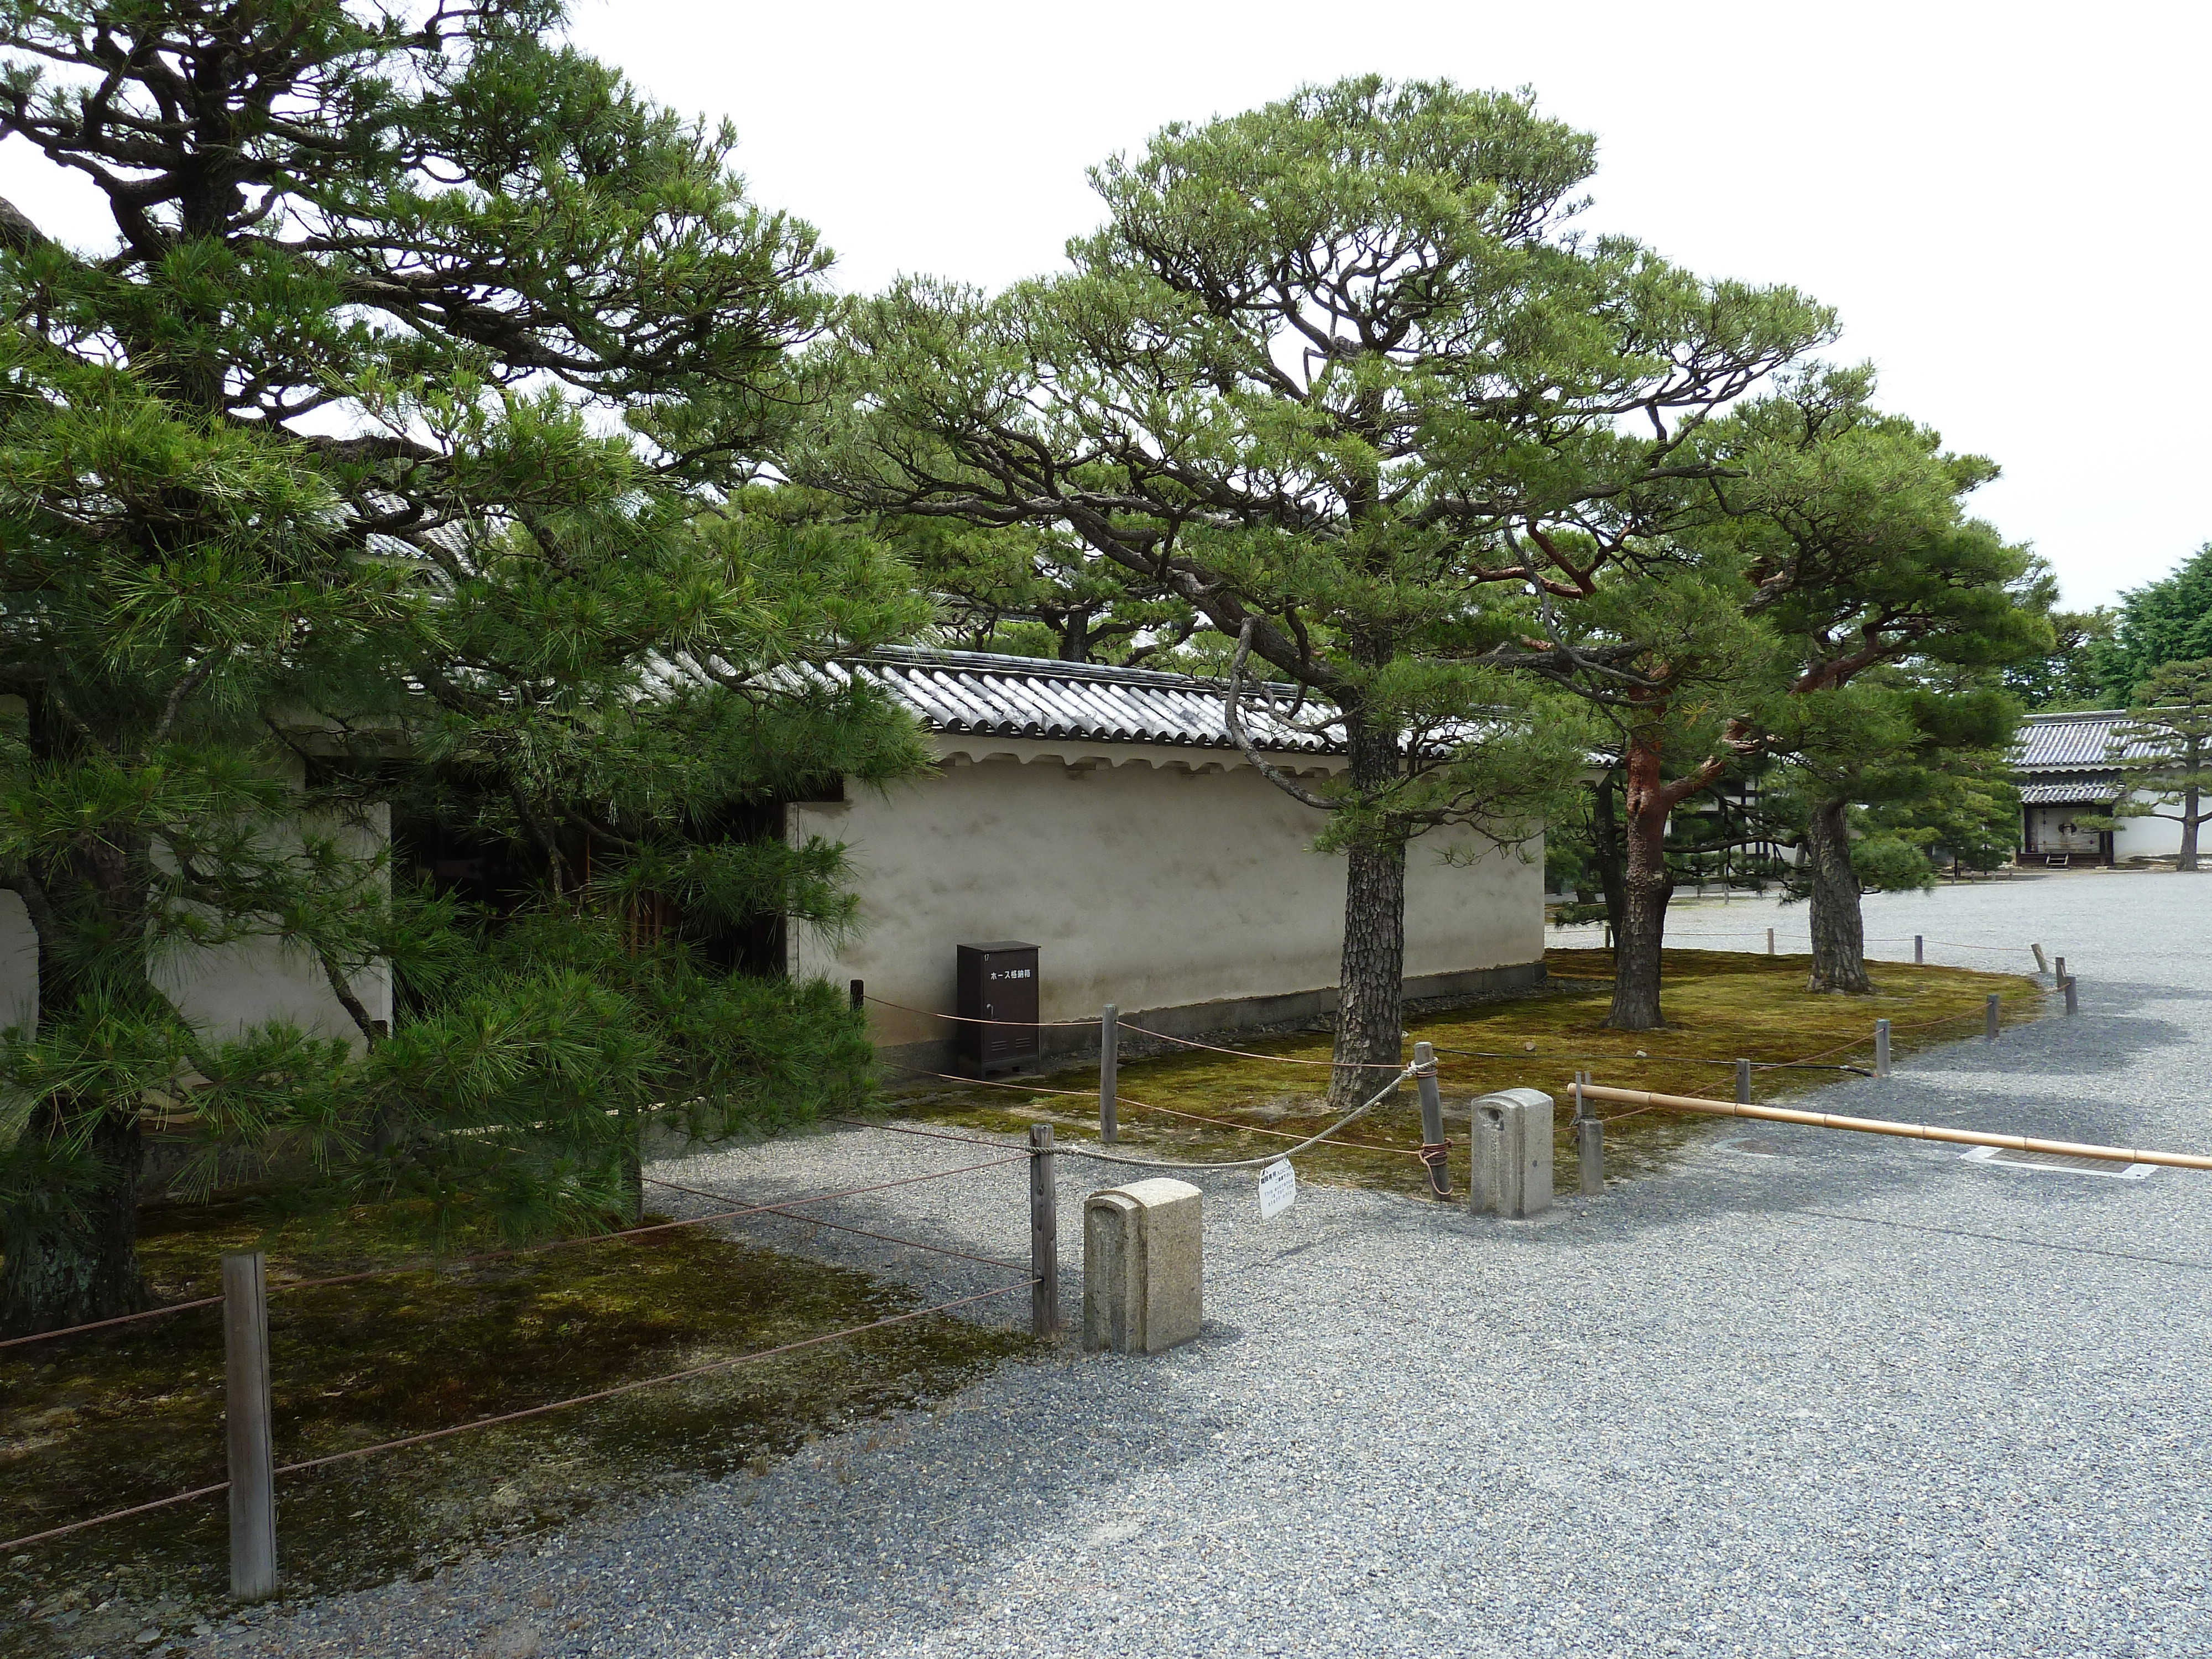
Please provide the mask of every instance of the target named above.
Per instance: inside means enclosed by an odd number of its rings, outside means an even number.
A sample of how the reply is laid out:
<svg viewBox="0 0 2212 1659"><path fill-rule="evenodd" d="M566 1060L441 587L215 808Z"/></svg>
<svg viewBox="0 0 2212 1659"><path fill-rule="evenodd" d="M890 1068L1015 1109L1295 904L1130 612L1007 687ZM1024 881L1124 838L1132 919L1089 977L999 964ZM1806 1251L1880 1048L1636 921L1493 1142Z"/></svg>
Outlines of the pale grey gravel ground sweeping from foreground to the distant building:
<svg viewBox="0 0 2212 1659"><path fill-rule="evenodd" d="M2081 1018L1823 1099L2212 1150L2208 925L2212 876L1874 900L1869 933L2064 951ZM765 1478L197 1650L2212 1652L2212 1177L1759 1128L1533 1223L1318 1188L1261 1223L1250 1175L1210 1177L1186 1349L1057 1352ZM967 1157L852 1130L657 1172L752 1197ZM1064 1219L1110 1183L1062 1172ZM1026 1239L1020 1166L830 1214L980 1254ZM993 1279L805 1248L931 1294Z"/></svg>

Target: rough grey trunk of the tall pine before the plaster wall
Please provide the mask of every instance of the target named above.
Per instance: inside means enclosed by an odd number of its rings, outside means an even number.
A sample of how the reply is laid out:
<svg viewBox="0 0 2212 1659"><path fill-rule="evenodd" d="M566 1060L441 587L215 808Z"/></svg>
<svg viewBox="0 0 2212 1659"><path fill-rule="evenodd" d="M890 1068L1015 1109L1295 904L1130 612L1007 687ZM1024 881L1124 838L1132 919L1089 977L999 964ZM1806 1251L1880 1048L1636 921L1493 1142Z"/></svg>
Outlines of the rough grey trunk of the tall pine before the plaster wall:
<svg viewBox="0 0 2212 1659"><path fill-rule="evenodd" d="M1398 732L1349 719L1352 781L1385 787L1398 770ZM1405 838L1352 843L1345 869L1345 951L1336 993L1336 1071L1329 1106L1349 1110L1383 1086L1378 1066L1405 1048Z"/></svg>

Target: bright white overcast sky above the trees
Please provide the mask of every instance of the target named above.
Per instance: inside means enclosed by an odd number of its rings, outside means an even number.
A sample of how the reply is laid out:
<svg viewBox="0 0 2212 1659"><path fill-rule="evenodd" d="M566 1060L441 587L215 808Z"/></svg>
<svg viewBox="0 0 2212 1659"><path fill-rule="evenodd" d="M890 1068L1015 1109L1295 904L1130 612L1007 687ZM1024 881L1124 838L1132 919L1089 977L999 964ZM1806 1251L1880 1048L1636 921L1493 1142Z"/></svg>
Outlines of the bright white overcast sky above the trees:
<svg viewBox="0 0 2212 1659"><path fill-rule="evenodd" d="M571 2L584 46L737 124L849 290L1057 265L1097 221L1084 168L1170 119L1363 71L1533 84L1599 137L1586 223L1840 307L1889 407L2004 467L1978 511L2068 604L2212 540L2203 4ZM108 239L40 175L0 146L0 195Z"/></svg>

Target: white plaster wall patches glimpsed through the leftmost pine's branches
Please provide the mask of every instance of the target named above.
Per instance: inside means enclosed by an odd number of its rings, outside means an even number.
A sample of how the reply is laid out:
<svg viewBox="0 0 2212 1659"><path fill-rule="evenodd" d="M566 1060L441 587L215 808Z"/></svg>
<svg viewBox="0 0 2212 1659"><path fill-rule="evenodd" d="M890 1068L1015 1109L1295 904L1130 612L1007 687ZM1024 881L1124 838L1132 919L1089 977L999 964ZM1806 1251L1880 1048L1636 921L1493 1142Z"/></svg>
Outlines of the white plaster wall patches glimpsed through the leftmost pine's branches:
<svg viewBox="0 0 2212 1659"><path fill-rule="evenodd" d="M389 841L389 807L376 805L341 830L365 856ZM352 1015L332 995L321 964L279 938L246 938L217 949L179 949L155 962L155 984L197 1029L234 1037L248 1026L285 1022L316 1037L358 1042ZM347 984L372 1020L392 1020L392 971L374 964ZM15 894L0 894L0 1029L38 1018L38 936Z"/></svg>

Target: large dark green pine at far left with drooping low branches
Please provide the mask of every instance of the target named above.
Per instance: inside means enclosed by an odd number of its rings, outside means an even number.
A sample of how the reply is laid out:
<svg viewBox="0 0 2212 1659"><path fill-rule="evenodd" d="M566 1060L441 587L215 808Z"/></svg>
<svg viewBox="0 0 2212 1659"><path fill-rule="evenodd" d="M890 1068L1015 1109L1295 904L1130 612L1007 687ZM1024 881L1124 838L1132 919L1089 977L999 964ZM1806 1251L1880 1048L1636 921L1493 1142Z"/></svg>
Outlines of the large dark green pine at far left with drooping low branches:
<svg viewBox="0 0 2212 1659"><path fill-rule="evenodd" d="M526 1230L635 1203L648 1106L721 1133L856 1086L827 987L732 940L843 918L838 852L770 807L920 757L805 670L927 613L745 489L814 234L557 24L0 4L0 135L115 230L0 212L0 887L38 958L0 1015L9 1332L144 1301L155 1121L190 1190L259 1146ZM394 810L500 878L394 880ZM338 1029L197 1000L254 951Z"/></svg>

